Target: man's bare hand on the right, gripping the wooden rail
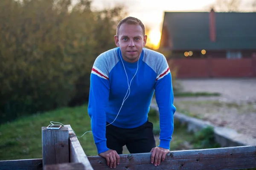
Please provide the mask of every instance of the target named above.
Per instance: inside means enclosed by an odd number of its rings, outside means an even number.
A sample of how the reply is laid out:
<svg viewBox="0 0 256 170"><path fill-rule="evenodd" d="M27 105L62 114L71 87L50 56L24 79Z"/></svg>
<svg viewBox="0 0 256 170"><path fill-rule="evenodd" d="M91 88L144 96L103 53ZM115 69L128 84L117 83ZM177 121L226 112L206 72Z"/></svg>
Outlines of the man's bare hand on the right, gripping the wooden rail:
<svg viewBox="0 0 256 170"><path fill-rule="evenodd" d="M151 154L151 164L154 163L154 166L160 165L161 159L164 161L167 153L170 152L169 149L165 149L163 147L154 147L150 151Z"/></svg>

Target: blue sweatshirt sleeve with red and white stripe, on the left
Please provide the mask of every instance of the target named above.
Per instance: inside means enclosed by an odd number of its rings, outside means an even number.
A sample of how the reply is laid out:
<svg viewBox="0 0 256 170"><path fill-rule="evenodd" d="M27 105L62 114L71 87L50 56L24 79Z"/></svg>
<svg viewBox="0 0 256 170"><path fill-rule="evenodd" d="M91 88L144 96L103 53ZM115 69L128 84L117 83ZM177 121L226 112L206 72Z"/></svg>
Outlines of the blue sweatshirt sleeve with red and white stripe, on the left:
<svg viewBox="0 0 256 170"><path fill-rule="evenodd" d="M91 118L93 139L98 154L108 149L106 139L106 112L110 91L109 74L104 57L99 56L94 62L90 75L90 93L88 114Z"/></svg>

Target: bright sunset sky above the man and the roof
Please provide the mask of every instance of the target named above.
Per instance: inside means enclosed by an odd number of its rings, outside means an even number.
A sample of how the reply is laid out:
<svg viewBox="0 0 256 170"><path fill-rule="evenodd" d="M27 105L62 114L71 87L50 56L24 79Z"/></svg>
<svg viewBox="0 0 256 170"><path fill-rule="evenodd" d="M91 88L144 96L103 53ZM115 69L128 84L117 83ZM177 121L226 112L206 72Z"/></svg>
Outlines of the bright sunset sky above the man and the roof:
<svg viewBox="0 0 256 170"><path fill-rule="evenodd" d="M241 0L241 10L249 11L253 0ZM128 16L139 18L147 28L153 43L160 40L165 11L209 11L215 0L93 0L93 8L125 6Z"/></svg>

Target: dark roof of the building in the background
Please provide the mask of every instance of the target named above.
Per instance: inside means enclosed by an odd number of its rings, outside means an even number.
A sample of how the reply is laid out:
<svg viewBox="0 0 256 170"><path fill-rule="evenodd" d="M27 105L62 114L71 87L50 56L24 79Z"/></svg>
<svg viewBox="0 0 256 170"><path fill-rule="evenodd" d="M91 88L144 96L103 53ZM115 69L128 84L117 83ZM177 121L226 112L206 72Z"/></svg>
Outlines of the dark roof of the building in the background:
<svg viewBox="0 0 256 170"><path fill-rule="evenodd" d="M256 12L215 12L215 42L209 37L209 12L165 12L165 24L173 50L256 49Z"/></svg>

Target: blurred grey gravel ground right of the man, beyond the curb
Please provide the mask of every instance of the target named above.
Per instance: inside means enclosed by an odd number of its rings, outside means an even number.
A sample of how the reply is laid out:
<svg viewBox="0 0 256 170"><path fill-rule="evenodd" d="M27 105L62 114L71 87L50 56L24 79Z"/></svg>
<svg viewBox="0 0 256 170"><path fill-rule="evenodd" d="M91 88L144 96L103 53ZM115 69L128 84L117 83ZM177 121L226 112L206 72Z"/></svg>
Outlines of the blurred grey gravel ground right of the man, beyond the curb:
<svg viewBox="0 0 256 170"><path fill-rule="evenodd" d="M183 91L221 96L175 97L177 112L256 138L256 79L182 79Z"/></svg>

